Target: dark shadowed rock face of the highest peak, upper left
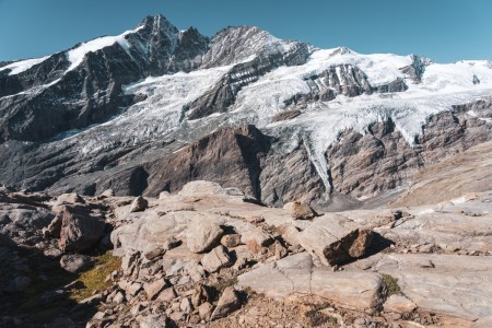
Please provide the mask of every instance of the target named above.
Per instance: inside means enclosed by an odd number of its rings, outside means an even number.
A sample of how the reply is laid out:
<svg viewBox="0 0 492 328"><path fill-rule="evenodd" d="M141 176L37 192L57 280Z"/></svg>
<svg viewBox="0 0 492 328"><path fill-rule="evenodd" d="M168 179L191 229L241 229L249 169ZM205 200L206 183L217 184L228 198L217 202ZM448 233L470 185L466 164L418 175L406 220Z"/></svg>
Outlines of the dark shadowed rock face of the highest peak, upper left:
<svg viewBox="0 0 492 328"><path fill-rule="evenodd" d="M63 51L20 74L2 72L0 96L11 97L0 98L0 141L46 140L104 121L133 102L122 94L122 84L189 71L200 65L208 49L207 37L195 28L180 35L162 15L147 17L139 27L125 36L128 49L115 42L87 52L71 70L69 51ZM34 96L21 93L35 87Z"/></svg>

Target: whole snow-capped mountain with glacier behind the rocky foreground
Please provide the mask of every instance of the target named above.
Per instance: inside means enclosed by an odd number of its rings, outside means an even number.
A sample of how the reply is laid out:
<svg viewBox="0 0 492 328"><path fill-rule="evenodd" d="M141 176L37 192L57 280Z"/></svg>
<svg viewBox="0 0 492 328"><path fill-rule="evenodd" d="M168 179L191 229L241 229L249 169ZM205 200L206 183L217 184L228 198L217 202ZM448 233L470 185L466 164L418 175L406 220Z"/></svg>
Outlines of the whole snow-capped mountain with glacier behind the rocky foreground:
<svg viewBox="0 0 492 328"><path fill-rule="evenodd" d="M359 204L491 139L491 95L487 60L318 49L251 26L208 38L157 15L0 66L0 181L155 195L207 178L270 204Z"/></svg>

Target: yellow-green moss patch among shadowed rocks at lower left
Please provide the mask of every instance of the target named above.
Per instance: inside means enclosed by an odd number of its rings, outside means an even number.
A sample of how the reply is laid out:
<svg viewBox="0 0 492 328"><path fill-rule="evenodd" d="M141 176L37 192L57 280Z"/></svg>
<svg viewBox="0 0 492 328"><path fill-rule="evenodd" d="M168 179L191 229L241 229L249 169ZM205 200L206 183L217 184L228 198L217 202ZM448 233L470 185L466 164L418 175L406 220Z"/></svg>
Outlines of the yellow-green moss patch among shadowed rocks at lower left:
<svg viewBox="0 0 492 328"><path fill-rule="evenodd" d="M95 292L102 292L110 285L106 282L109 273L121 268L121 259L113 256L110 251L94 258L94 267L80 274L79 281L81 288L72 289L70 291L70 298L73 301L82 301L92 296Z"/></svg>

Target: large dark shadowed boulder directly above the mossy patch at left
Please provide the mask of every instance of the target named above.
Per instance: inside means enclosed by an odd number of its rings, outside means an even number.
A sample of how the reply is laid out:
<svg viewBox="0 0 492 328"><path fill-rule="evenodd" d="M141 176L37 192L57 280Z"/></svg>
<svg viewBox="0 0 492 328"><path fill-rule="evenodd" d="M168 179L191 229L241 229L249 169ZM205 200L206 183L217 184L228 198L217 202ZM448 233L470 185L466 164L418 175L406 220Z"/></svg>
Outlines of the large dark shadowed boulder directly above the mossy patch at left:
<svg viewBox="0 0 492 328"><path fill-rule="evenodd" d="M65 207L59 245L70 251L91 249L102 237L105 222L82 207Z"/></svg>

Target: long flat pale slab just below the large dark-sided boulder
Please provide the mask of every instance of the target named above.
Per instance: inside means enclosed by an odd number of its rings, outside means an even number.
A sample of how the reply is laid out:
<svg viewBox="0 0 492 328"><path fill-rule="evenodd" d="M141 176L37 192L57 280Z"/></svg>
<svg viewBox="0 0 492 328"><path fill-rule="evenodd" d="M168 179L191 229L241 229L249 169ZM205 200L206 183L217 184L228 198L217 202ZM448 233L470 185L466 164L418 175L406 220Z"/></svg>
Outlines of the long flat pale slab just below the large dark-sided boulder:
<svg viewBox="0 0 492 328"><path fill-rule="evenodd" d="M272 298L311 294L345 308L365 311L380 303L382 278L375 272L317 268L309 254L301 253L239 276L238 284Z"/></svg>

